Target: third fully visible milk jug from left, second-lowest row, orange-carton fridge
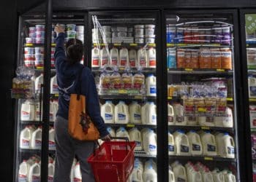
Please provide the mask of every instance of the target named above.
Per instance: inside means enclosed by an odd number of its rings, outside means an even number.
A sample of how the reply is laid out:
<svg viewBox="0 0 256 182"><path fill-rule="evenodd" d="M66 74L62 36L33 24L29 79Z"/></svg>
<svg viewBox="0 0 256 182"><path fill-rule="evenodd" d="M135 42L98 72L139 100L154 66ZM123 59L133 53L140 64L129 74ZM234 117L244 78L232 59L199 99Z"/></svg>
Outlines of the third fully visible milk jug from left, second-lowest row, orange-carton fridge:
<svg viewBox="0 0 256 182"><path fill-rule="evenodd" d="M202 135L203 155L217 156L217 143L214 135L211 132L206 132Z"/></svg>

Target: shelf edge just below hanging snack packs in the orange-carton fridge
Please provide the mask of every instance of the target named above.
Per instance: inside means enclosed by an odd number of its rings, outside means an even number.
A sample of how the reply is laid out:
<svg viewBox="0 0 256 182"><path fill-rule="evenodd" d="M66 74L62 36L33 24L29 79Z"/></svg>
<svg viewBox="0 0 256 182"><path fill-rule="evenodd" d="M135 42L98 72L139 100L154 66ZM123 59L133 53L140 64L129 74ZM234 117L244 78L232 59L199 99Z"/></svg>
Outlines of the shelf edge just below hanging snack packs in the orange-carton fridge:
<svg viewBox="0 0 256 182"><path fill-rule="evenodd" d="M205 127L205 126L182 126L182 125L169 125L171 130L214 130L222 132L235 132L233 127Z"/></svg>

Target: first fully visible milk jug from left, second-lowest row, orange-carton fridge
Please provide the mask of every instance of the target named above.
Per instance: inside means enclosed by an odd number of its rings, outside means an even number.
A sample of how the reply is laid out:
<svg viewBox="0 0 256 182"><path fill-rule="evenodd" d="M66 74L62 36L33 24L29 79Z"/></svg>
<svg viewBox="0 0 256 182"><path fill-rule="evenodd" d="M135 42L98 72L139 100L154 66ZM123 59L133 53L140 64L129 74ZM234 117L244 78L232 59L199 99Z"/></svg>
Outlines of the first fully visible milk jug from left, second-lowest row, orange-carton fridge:
<svg viewBox="0 0 256 182"><path fill-rule="evenodd" d="M173 133L173 136L176 146L176 155L189 155L189 138L187 138L187 135L184 134L184 131L177 130L176 132Z"/></svg>

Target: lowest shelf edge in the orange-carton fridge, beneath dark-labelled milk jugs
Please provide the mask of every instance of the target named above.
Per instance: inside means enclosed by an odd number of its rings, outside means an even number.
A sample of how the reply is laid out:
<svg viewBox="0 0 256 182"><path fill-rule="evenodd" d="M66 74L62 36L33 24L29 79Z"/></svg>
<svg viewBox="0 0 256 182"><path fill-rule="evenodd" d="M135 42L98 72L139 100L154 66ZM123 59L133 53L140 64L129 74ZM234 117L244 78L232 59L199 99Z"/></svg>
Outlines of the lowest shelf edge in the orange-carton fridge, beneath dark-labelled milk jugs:
<svg viewBox="0 0 256 182"><path fill-rule="evenodd" d="M236 162L236 159L229 159L229 158L223 158L223 157L200 157L200 156L174 156L169 155L170 160L199 160L199 161L214 161L214 162Z"/></svg>

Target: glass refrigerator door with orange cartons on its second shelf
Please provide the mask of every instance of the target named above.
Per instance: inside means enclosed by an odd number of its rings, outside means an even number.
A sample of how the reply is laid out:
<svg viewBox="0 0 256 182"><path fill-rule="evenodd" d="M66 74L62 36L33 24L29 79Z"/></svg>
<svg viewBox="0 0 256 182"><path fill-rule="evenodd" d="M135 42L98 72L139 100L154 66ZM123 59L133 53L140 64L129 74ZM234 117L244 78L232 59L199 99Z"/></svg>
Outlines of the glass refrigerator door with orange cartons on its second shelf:
<svg viewBox="0 0 256 182"><path fill-rule="evenodd" d="M238 181L233 14L165 12L165 22L169 181Z"/></svg>

